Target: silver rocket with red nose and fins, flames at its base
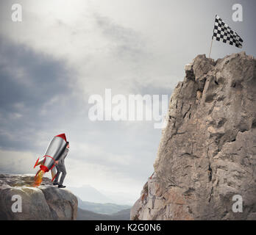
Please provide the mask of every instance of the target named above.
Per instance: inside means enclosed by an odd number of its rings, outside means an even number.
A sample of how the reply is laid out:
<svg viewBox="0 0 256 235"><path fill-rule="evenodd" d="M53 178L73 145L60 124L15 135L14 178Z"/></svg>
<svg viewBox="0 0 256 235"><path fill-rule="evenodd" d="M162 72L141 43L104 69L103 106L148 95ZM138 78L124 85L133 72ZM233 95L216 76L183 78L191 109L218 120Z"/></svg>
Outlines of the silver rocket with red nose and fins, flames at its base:
<svg viewBox="0 0 256 235"><path fill-rule="evenodd" d="M40 165L40 170L38 170L38 173L35 175L35 187L40 185L43 180L43 175L49 170L51 170L51 181L54 181L57 174L55 167L56 161L60 159L67 145L68 143L64 133L53 137L48 148L46 148L44 156L41 159L38 158L37 162L35 162L34 168Z"/></svg>

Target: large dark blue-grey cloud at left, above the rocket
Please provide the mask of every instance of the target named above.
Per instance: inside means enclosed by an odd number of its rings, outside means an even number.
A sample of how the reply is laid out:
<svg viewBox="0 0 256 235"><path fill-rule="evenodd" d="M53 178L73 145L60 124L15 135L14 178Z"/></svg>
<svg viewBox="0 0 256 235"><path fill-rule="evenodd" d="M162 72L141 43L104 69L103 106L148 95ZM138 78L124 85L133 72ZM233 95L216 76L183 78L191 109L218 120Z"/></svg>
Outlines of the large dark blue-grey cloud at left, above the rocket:
<svg viewBox="0 0 256 235"><path fill-rule="evenodd" d="M7 42L3 37L0 57L1 148L35 149L31 140L43 127L60 121L69 106L70 71L65 69L65 62ZM56 103L49 104L54 99Z"/></svg>

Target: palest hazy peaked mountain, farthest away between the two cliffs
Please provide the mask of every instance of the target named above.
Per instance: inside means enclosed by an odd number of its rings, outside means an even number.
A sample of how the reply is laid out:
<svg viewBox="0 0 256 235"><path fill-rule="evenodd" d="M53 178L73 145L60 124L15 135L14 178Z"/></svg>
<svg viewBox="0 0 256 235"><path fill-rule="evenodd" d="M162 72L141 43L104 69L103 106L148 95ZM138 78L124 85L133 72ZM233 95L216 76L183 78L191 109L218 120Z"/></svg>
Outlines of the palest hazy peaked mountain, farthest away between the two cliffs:
<svg viewBox="0 0 256 235"><path fill-rule="evenodd" d="M68 187L68 189L83 201L90 201L93 203L115 203L115 201L111 200L90 185L83 185L82 187Z"/></svg>

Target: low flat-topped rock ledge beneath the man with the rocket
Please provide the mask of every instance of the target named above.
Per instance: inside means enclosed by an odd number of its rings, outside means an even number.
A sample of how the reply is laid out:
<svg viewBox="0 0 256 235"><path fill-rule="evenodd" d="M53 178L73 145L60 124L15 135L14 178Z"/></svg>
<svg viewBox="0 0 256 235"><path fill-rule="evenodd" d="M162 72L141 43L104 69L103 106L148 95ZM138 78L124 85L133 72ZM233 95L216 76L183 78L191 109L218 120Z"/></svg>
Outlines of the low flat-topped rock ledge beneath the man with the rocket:
<svg viewBox="0 0 256 235"><path fill-rule="evenodd" d="M40 187L32 187L33 183L32 175L0 174L0 220L77 219L76 196L52 186L49 178L44 177ZM14 203L20 199L21 211L16 211Z"/></svg>

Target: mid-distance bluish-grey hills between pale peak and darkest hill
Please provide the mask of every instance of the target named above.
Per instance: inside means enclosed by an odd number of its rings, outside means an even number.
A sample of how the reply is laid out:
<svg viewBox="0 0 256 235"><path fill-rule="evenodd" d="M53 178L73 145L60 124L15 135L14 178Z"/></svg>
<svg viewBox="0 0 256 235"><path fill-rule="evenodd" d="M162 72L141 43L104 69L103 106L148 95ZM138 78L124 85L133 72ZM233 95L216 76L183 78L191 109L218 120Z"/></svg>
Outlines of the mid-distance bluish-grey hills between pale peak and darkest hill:
<svg viewBox="0 0 256 235"><path fill-rule="evenodd" d="M113 213L118 213L119 211L123 211L125 209L131 208L131 206L117 205L114 203L91 203L88 201L82 201L79 197L77 197L77 200L78 200L78 207L80 209L93 211L99 214L113 214Z"/></svg>

